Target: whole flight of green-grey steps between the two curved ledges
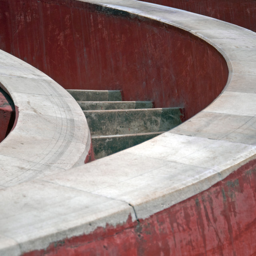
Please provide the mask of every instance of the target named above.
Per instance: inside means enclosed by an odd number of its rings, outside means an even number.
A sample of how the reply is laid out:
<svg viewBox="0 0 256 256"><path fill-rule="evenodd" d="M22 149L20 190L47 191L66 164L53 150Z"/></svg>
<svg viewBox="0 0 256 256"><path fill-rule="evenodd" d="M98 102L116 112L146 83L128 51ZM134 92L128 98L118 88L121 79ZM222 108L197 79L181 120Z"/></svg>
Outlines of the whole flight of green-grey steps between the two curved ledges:
<svg viewBox="0 0 256 256"><path fill-rule="evenodd" d="M180 108L152 101L122 101L118 90L67 90L81 106L96 159L149 140L181 123Z"/></svg>

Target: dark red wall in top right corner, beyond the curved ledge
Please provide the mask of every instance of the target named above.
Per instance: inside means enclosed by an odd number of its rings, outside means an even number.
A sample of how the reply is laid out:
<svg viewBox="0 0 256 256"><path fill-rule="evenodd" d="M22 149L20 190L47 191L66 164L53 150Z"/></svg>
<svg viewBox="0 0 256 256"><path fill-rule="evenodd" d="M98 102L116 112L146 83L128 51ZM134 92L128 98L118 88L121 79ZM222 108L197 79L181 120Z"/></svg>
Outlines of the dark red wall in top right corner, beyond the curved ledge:
<svg viewBox="0 0 256 256"><path fill-rule="evenodd" d="M142 0L210 16L256 32L255 0Z"/></svg>

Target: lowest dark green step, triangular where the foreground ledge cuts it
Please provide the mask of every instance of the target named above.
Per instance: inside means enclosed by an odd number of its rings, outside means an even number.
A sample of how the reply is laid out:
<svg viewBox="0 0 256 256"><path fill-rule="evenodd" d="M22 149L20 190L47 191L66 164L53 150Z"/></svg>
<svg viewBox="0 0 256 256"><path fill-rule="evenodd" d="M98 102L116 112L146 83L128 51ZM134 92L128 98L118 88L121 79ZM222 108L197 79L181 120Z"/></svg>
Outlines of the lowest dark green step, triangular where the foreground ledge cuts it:
<svg viewBox="0 0 256 256"><path fill-rule="evenodd" d="M146 140L150 140L162 132L148 132L140 134L122 134L110 136L92 136L95 159L109 156L118 151L130 148Z"/></svg>

